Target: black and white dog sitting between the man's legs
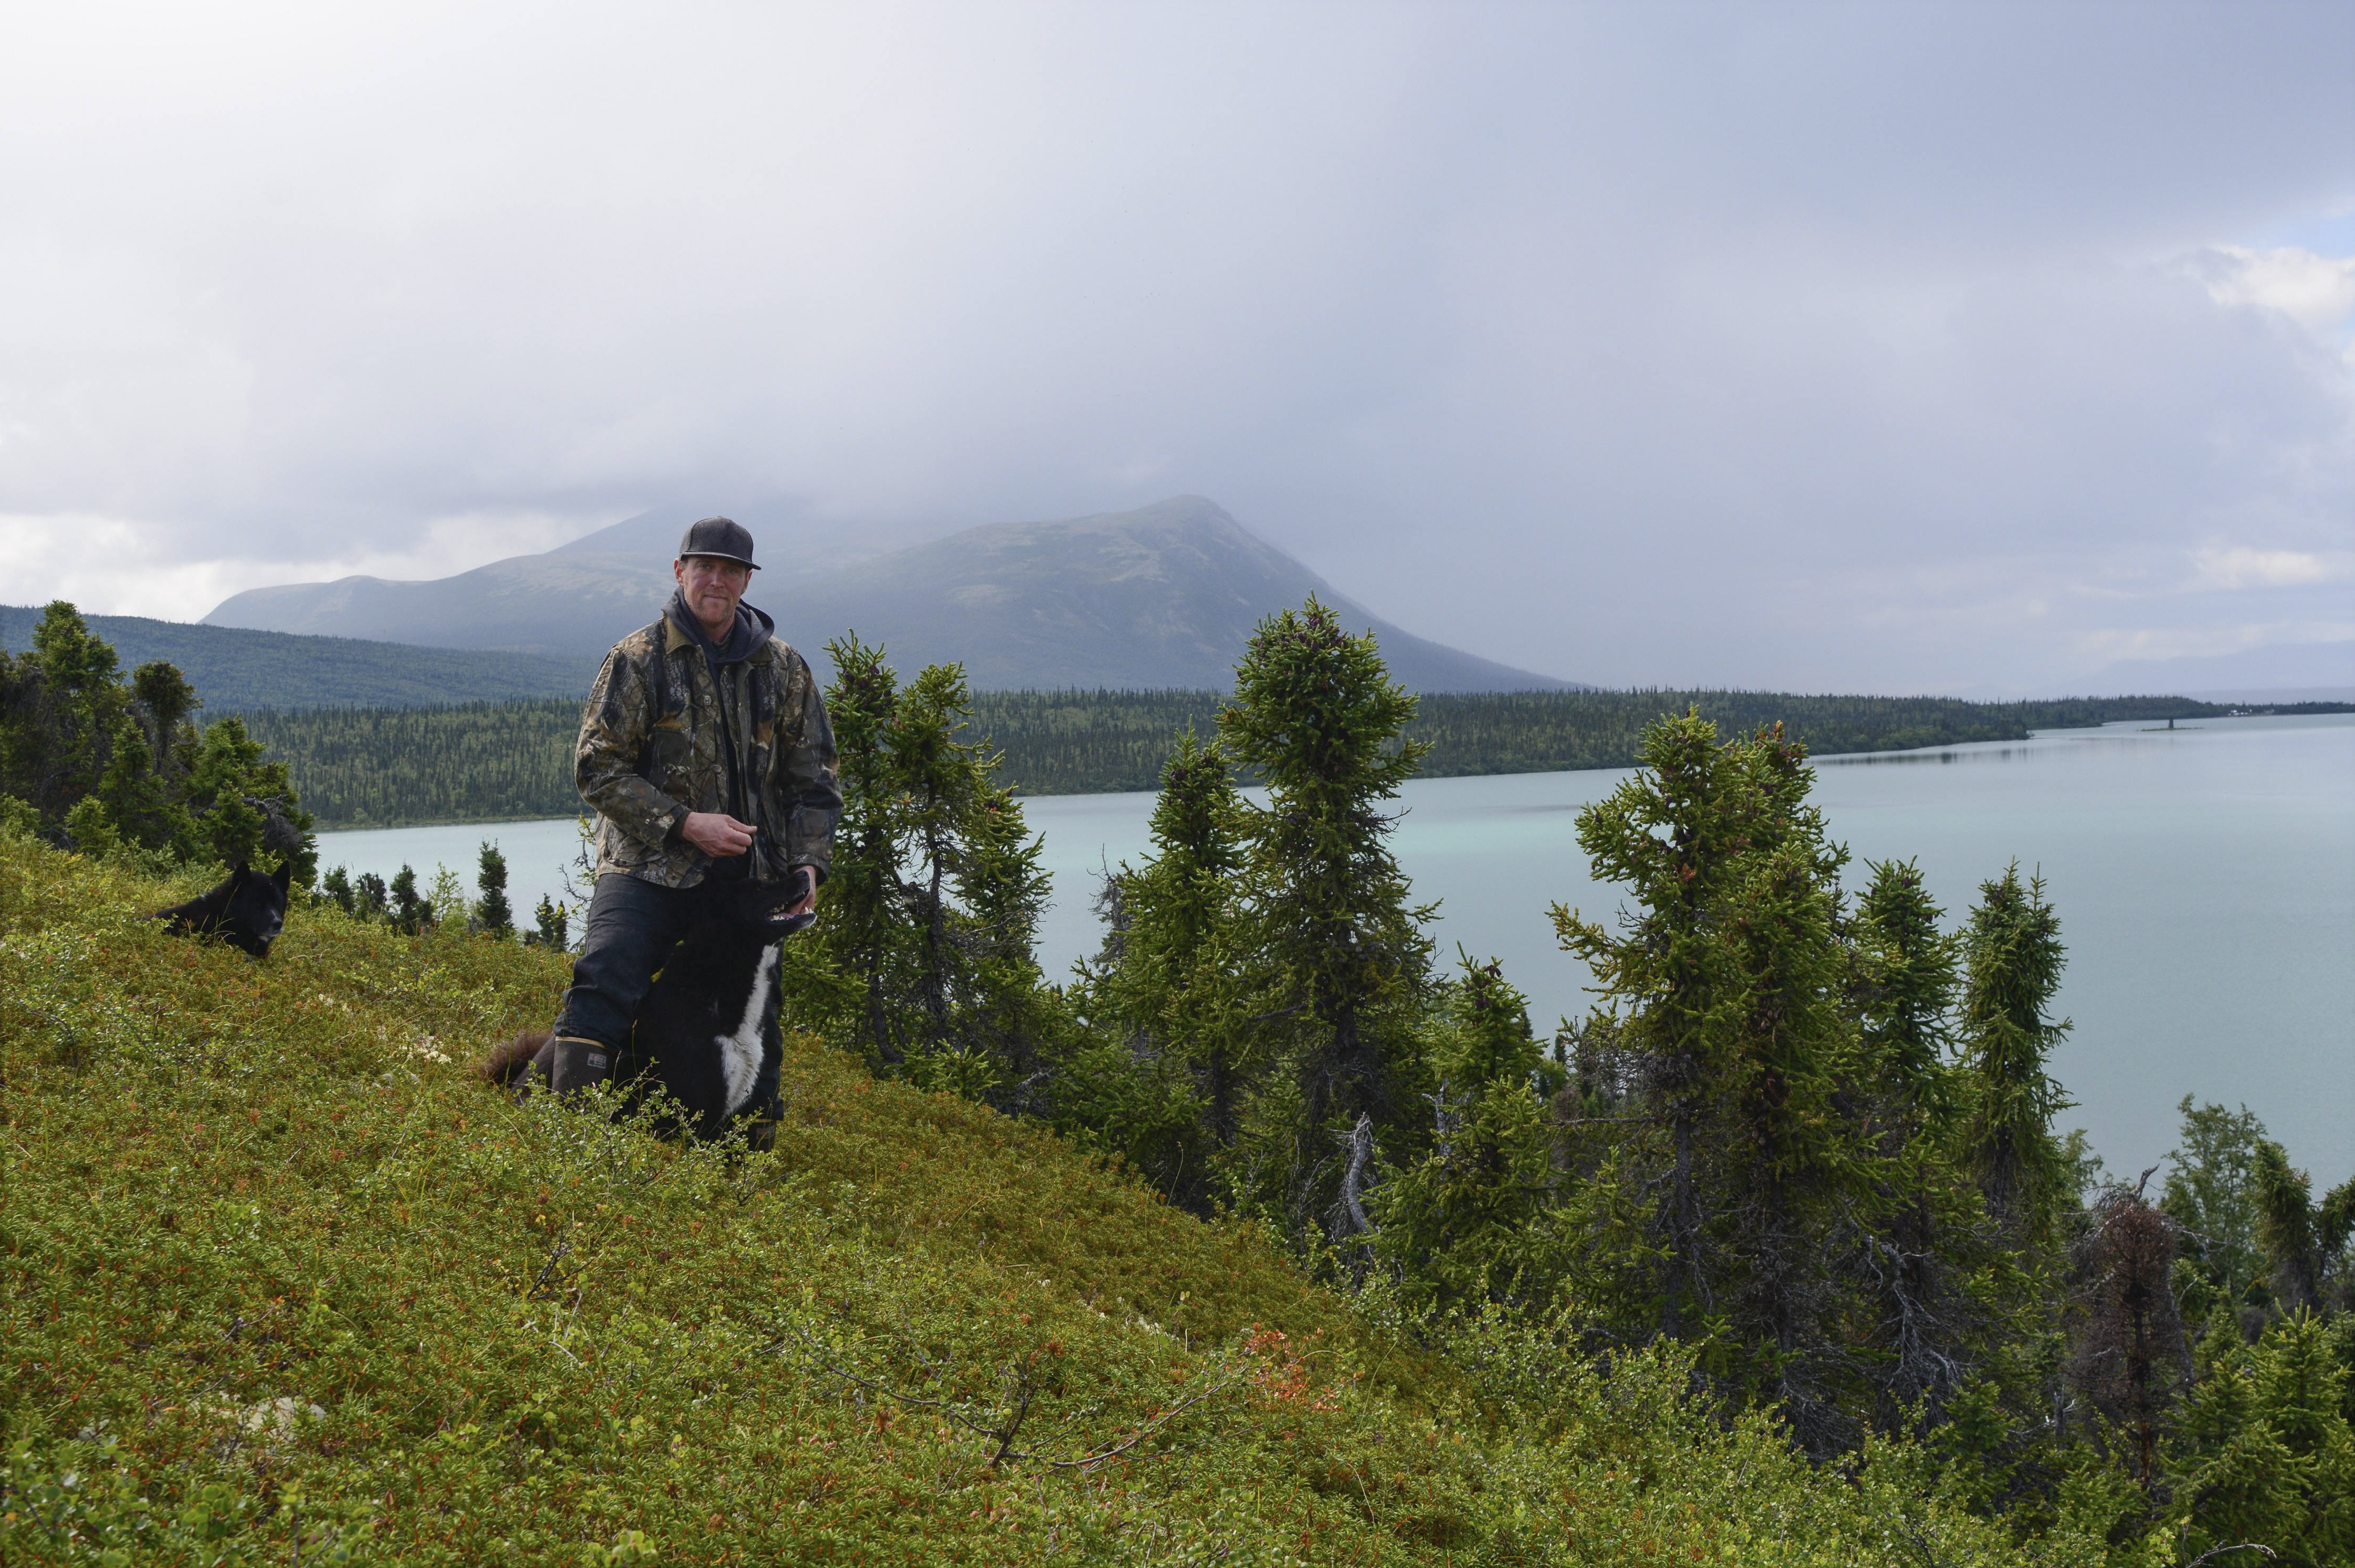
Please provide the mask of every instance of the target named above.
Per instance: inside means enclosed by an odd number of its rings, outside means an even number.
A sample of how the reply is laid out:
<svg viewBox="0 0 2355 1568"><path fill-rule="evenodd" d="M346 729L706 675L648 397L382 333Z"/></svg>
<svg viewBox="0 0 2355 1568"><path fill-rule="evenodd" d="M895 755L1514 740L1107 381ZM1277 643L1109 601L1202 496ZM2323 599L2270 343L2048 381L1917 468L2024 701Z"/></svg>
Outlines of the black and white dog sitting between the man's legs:
<svg viewBox="0 0 2355 1568"><path fill-rule="evenodd" d="M801 895L798 876L744 883L721 913L688 928L638 1003L629 1045L615 1055L612 1081L622 1088L624 1114L659 1088L676 1107L655 1118L664 1137L683 1130L716 1140L739 1116L751 1116L754 1147L768 1147L782 1109L780 944L810 923L808 913L787 913ZM499 1085L520 1078L516 1097L523 1099L549 1083L549 1041L546 1031L518 1034L483 1057L476 1071Z"/></svg>

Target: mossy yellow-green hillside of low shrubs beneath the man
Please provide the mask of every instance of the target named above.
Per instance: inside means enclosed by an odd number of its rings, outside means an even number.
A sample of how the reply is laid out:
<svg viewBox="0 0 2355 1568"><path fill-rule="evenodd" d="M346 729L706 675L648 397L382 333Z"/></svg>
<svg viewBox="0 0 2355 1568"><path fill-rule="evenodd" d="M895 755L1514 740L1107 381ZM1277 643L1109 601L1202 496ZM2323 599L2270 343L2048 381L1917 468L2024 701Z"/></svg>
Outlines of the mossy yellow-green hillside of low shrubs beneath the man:
<svg viewBox="0 0 2355 1568"><path fill-rule="evenodd" d="M0 1561L2016 1561L810 1041L765 1156L511 1107L563 958L198 885L0 843Z"/></svg>

